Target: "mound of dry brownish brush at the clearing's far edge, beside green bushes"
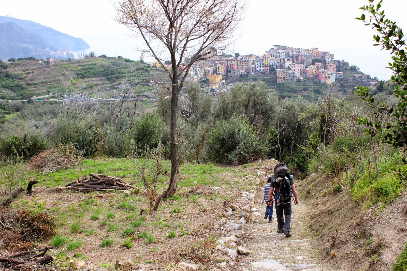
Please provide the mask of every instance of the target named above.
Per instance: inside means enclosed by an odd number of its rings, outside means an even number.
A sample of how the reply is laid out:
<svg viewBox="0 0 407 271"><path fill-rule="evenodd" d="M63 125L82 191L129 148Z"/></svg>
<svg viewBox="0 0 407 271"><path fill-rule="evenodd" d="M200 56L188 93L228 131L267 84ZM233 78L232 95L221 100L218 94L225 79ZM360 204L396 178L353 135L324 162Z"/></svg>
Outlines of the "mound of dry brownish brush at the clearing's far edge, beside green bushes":
<svg viewBox="0 0 407 271"><path fill-rule="evenodd" d="M63 146L59 144L53 149L43 151L31 158L27 170L39 170L44 173L53 173L59 169L68 169L78 165L80 153L74 145Z"/></svg>

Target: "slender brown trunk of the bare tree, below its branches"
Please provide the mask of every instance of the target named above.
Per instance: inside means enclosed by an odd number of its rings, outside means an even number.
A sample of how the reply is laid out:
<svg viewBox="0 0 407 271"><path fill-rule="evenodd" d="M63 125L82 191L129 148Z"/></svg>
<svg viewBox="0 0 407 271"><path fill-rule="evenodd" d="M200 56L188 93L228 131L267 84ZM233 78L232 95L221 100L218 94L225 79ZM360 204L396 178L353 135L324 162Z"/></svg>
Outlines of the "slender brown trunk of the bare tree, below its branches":
<svg viewBox="0 0 407 271"><path fill-rule="evenodd" d="M178 141L177 141L177 109L178 109L178 78L173 77L173 85L171 88L171 113L170 113L170 154L171 154L171 177L168 189L161 197L172 197L175 194L178 186Z"/></svg>

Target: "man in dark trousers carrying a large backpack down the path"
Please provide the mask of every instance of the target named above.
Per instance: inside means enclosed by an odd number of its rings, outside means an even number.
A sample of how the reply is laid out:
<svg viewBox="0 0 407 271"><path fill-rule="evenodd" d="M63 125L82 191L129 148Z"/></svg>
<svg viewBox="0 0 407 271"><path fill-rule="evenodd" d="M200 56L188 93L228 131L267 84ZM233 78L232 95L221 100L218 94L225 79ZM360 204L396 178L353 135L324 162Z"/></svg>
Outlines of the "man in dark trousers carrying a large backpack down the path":
<svg viewBox="0 0 407 271"><path fill-rule="evenodd" d="M297 190L290 175L287 164L279 163L274 168L274 181L270 184L269 206L275 201L277 216L277 232L291 237L291 201L298 204ZM285 219L284 219L285 216Z"/></svg>

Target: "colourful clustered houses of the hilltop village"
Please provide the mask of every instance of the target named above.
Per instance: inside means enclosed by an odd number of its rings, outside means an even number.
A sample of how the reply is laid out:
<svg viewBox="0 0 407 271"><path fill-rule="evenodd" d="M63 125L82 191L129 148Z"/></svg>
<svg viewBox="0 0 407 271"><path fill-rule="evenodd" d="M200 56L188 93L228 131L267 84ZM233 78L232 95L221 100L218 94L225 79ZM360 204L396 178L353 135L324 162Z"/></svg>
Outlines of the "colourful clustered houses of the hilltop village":
<svg viewBox="0 0 407 271"><path fill-rule="evenodd" d="M321 83L330 85L344 78L343 72L337 71L337 64L329 51L320 51L318 48L301 49L276 45L262 56L254 54L235 57L224 57L219 54L214 60L195 64L190 80L199 81L205 77L209 87L217 89L223 85L224 79L235 79L243 74L253 76L269 76L277 83L297 83L306 78L315 78ZM141 60L145 61L144 55ZM158 62L147 62L151 67L159 66ZM366 81L366 85L376 85L378 82L369 75L354 74L355 79Z"/></svg>

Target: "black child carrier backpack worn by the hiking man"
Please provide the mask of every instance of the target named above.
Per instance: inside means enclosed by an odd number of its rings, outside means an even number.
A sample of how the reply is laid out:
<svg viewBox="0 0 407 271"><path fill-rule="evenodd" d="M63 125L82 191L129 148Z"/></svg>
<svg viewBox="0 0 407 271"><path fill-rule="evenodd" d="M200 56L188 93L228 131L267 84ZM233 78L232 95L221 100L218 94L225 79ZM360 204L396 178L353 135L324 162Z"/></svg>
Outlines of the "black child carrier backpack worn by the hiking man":
<svg viewBox="0 0 407 271"><path fill-rule="evenodd" d="M291 191L291 176L287 164L279 163L274 168L274 181L278 183L279 196L277 205L290 203L293 199Z"/></svg>

